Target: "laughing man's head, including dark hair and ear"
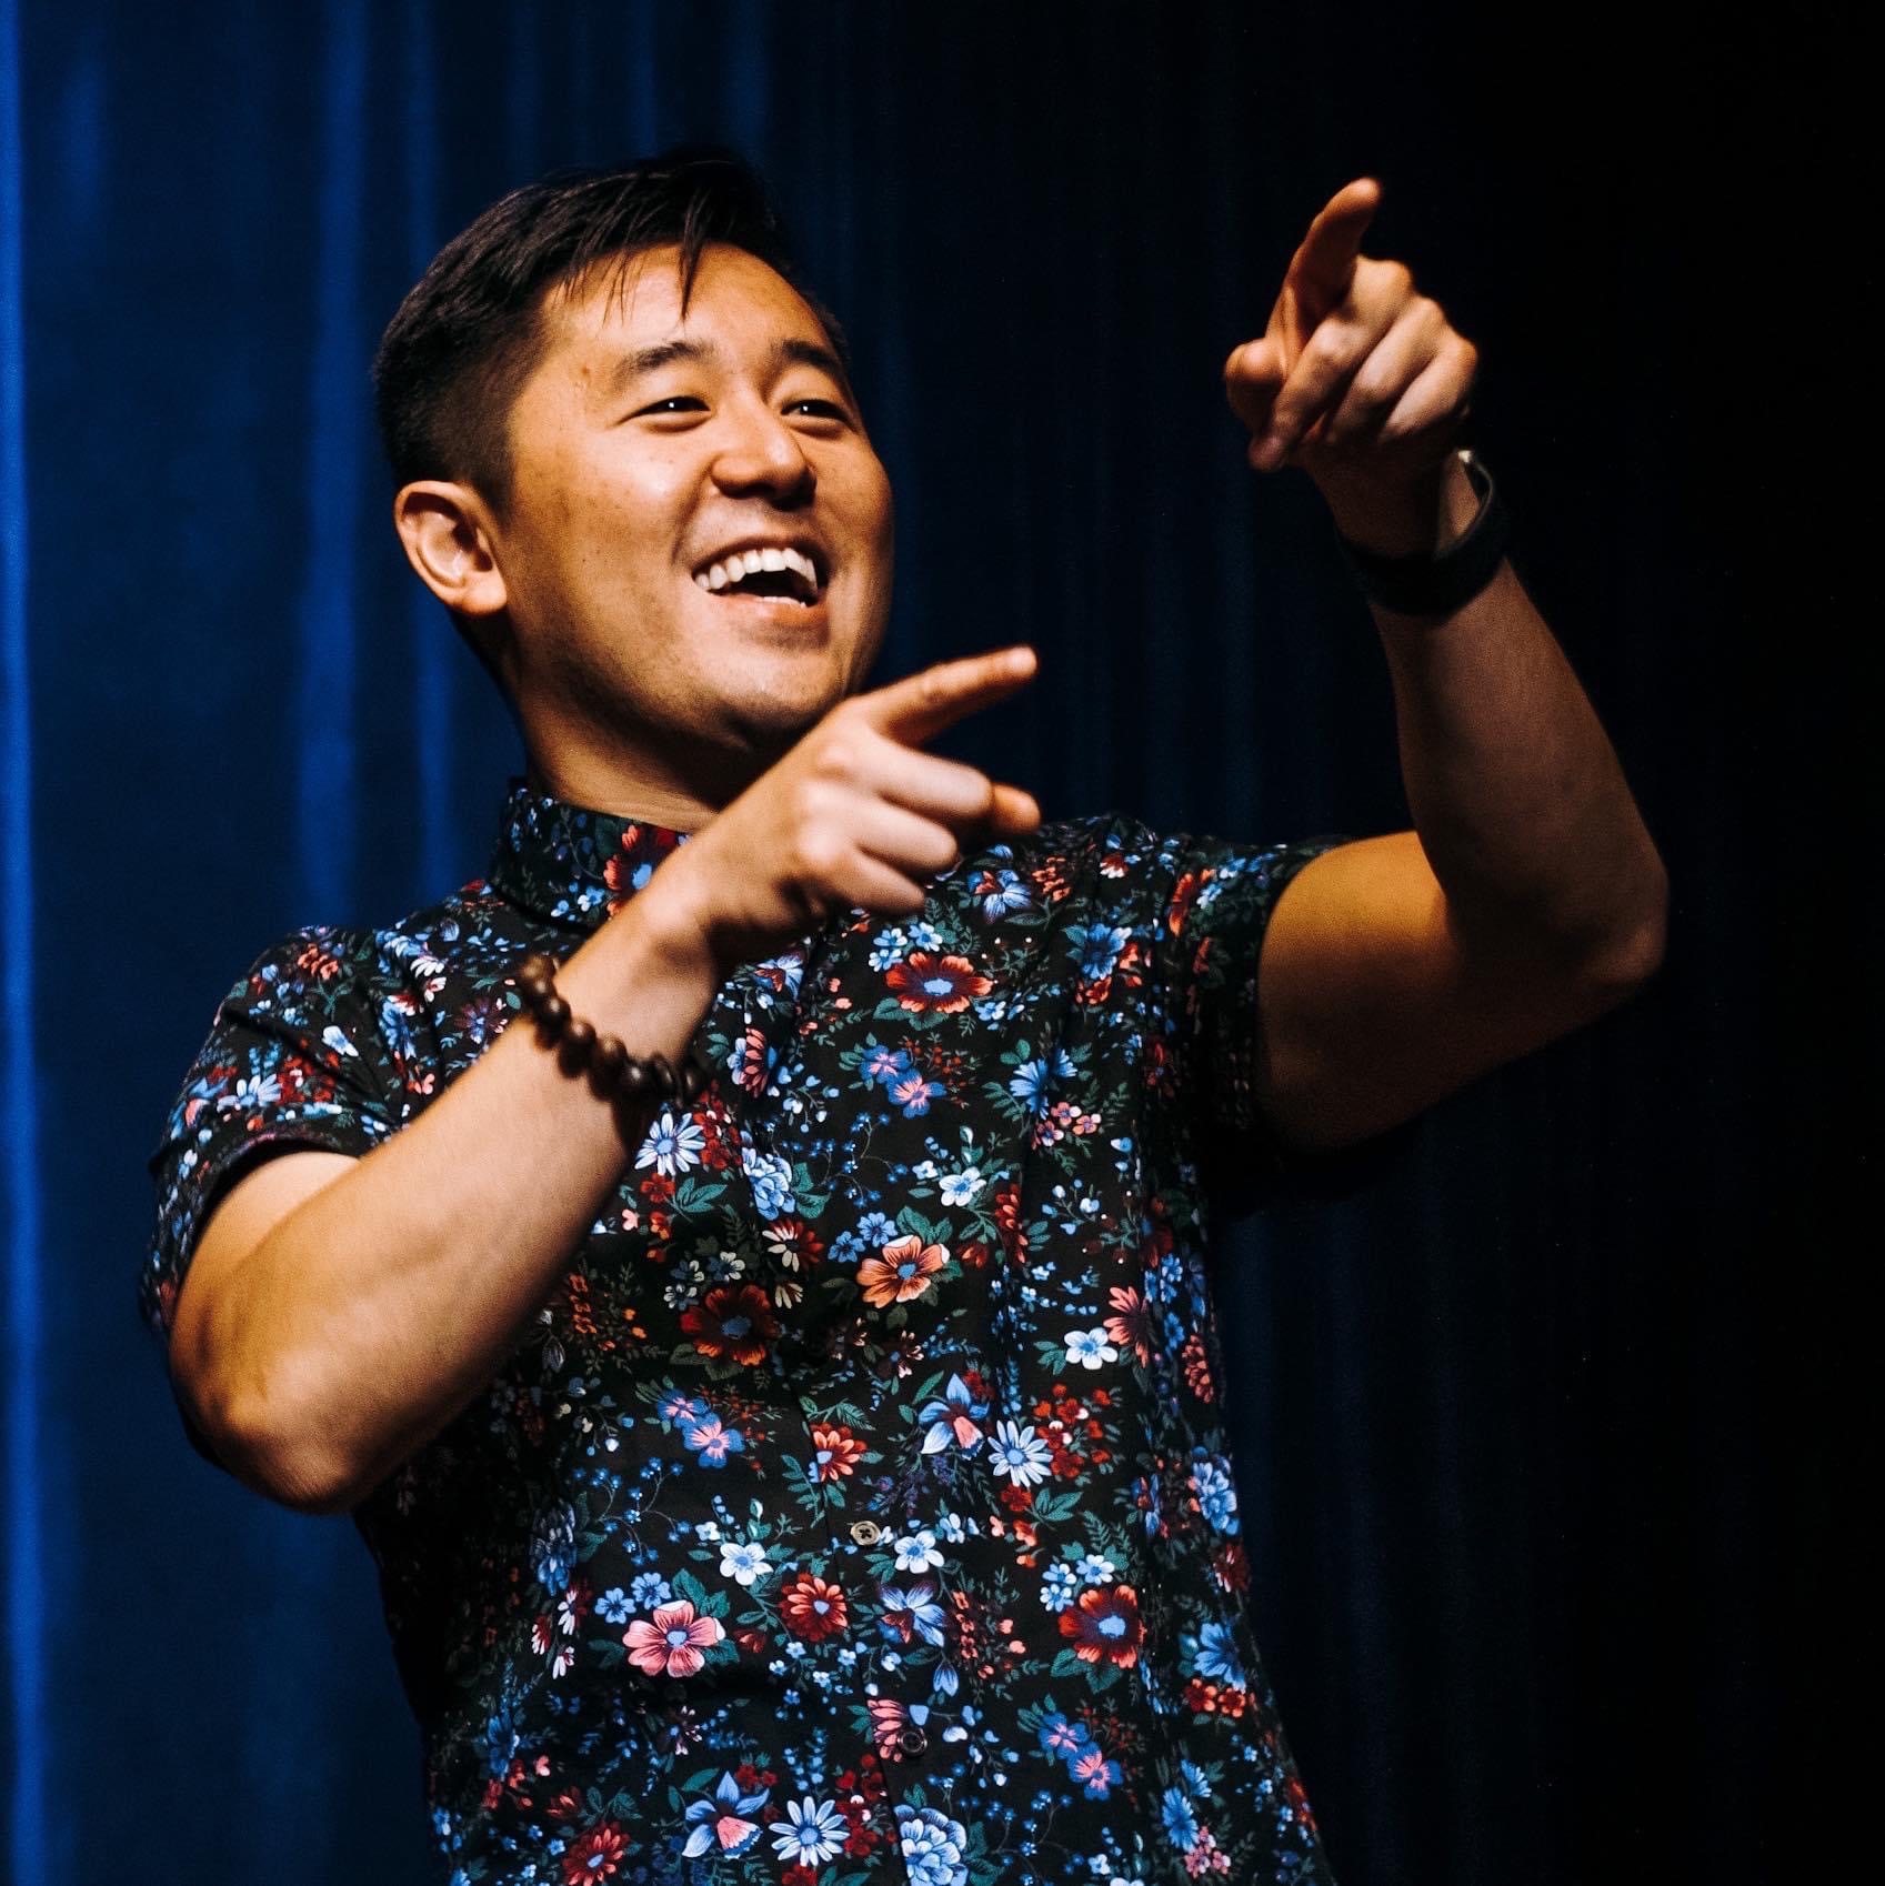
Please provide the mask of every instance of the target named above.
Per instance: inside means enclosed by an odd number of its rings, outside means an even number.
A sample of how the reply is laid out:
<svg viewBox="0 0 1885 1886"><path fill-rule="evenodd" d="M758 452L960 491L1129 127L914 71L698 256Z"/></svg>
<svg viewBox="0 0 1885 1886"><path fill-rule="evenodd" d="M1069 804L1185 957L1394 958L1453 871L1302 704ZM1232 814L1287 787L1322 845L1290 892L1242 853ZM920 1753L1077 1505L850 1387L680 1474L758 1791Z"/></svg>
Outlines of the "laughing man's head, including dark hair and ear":
<svg viewBox="0 0 1885 1886"><path fill-rule="evenodd" d="M860 685L889 483L738 158L504 198L406 298L375 383L406 553L555 790L723 803ZM743 549L787 568L730 573Z"/></svg>

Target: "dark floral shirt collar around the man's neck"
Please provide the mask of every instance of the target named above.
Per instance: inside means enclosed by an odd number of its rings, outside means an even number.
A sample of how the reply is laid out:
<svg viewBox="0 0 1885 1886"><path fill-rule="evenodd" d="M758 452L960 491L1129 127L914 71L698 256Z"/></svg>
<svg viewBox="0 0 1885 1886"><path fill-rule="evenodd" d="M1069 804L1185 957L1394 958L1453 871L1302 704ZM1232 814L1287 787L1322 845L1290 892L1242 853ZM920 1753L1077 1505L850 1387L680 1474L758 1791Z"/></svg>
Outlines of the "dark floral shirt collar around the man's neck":
<svg viewBox="0 0 1885 1886"><path fill-rule="evenodd" d="M672 826L570 805L513 779L485 881L538 917L594 930L685 839Z"/></svg>

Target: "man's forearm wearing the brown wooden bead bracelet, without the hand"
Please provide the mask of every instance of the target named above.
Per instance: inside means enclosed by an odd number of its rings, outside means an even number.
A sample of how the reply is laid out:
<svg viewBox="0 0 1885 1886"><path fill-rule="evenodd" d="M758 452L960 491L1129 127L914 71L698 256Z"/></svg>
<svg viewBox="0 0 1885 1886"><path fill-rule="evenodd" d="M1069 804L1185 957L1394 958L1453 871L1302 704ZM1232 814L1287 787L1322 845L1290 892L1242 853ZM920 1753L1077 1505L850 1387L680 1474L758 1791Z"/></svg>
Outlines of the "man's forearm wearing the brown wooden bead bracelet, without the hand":
<svg viewBox="0 0 1885 1886"><path fill-rule="evenodd" d="M715 975L630 905L559 971L577 1015L679 1062ZM542 1309L649 1107L562 1073L528 1022L304 1199L209 1298L213 1437L296 1505L351 1505L432 1439Z"/></svg>

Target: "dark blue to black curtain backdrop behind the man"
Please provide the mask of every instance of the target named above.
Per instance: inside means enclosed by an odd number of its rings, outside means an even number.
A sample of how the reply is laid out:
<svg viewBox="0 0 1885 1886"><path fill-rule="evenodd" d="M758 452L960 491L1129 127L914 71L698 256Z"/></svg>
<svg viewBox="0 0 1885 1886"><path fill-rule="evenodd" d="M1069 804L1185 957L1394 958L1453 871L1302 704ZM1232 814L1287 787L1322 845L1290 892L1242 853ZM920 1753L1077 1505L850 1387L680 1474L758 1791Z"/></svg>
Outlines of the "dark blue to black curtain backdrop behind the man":
<svg viewBox="0 0 1885 1886"><path fill-rule="evenodd" d="M1025 636L955 751L1262 839L1406 824L1366 611L1219 387L1383 181L1674 917L1626 1009L1226 1241L1257 1633L1349 1886L1815 1877L1885 1045L1823 58L1643 9L0 0L13 1877L421 1873L366 1552L187 1448L142 1162L257 951L474 875L515 764L389 526L379 326L504 189L683 136L766 166L851 330L885 673Z"/></svg>

